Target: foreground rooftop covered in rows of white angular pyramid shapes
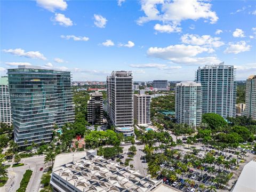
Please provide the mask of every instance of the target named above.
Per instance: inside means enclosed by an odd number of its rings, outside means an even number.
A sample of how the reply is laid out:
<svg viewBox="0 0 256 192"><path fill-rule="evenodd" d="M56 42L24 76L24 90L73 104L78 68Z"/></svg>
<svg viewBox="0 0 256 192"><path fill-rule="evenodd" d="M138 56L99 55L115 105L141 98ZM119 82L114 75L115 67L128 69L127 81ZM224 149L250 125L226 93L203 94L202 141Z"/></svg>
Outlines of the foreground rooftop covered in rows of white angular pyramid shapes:
<svg viewBox="0 0 256 192"><path fill-rule="evenodd" d="M149 176L141 175L138 171L127 169L119 163L113 163L111 160L96 155L88 155L58 167L54 163L53 177L54 174L65 180L69 185L88 192L146 192L162 184L162 181L151 179Z"/></svg>

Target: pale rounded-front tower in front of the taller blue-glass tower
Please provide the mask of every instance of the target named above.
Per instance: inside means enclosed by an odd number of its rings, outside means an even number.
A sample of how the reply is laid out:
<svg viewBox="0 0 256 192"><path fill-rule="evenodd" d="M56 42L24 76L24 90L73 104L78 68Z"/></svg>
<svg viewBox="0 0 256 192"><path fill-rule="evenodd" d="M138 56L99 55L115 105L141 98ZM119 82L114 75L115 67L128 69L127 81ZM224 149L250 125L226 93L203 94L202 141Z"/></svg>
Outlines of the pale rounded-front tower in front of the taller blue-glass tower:
<svg viewBox="0 0 256 192"><path fill-rule="evenodd" d="M175 118L178 123L199 126L202 120L201 84L184 81L176 84Z"/></svg>

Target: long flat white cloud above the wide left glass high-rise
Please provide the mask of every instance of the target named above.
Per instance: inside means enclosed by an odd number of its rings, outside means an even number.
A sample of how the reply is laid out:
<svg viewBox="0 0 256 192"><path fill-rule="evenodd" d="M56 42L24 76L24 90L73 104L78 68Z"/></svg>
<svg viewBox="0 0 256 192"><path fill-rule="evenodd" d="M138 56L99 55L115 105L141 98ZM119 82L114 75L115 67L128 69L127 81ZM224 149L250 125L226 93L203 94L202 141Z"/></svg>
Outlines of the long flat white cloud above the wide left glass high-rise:
<svg viewBox="0 0 256 192"><path fill-rule="evenodd" d="M36 59L42 59L42 60L46 60L46 58L44 57L44 55L42 53L40 53L39 51L28 51L25 52L25 50L22 50L20 48L18 49L9 49L9 50L2 50L5 53L11 53L14 55L18 55L18 56L23 56L26 58L36 58Z"/></svg>

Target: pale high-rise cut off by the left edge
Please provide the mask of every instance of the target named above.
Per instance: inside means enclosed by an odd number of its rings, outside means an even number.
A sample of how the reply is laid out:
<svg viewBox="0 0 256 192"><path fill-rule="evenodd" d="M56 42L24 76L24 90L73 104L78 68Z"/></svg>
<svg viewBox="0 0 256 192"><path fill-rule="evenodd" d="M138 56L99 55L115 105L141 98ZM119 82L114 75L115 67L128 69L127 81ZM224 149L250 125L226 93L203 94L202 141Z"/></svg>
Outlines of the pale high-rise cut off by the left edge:
<svg viewBox="0 0 256 192"><path fill-rule="evenodd" d="M12 123L8 77L0 77L0 122Z"/></svg>

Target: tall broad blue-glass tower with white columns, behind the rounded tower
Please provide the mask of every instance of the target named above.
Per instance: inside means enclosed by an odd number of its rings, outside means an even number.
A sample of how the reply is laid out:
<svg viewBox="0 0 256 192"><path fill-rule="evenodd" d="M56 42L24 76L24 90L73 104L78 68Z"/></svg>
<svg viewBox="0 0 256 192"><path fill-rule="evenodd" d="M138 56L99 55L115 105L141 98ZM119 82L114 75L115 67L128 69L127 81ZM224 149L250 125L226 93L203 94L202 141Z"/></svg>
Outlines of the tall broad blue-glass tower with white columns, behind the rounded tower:
<svg viewBox="0 0 256 192"><path fill-rule="evenodd" d="M202 85L202 113L215 113L223 118L236 116L236 75L234 66L199 67L196 82Z"/></svg>

